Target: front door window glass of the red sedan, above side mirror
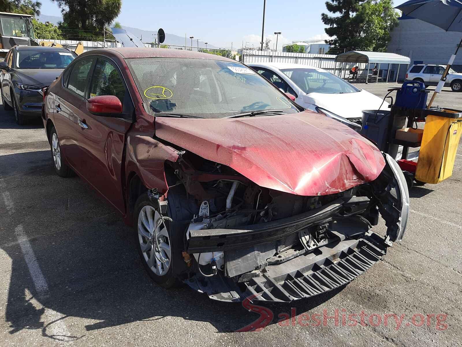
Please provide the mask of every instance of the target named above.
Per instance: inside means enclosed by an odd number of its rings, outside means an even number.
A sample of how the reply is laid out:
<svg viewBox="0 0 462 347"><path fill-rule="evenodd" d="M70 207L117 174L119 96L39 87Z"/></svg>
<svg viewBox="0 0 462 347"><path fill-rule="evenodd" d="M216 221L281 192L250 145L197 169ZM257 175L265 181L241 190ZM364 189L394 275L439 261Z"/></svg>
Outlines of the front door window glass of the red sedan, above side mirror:
<svg viewBox="0 0 462 347"><path fill-rule="evenodd" d="M100 95L115 95L123 105L125 85L114 65L97 59L90 85L90 97Z"/></svg>

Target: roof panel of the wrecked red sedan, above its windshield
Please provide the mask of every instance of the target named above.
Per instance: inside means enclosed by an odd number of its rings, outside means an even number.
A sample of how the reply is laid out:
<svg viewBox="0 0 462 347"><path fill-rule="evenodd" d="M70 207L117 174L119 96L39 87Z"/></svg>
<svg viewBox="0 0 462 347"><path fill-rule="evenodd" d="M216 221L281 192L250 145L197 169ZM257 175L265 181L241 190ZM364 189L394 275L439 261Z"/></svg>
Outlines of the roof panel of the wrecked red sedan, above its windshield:
<svg viewBox="0 0 462 347"><path fill-rule="evenodd" d="M196 59L213 59L223 60L228 62L237 62L223 56L217 56L209 53L193 52L190 50L175 50L169 48L146 48L146 47L122 47L122 48L101 48L89 50L88 54L104 54L115 52L122 55L125 59L132 58L196 58Z"/></svg>

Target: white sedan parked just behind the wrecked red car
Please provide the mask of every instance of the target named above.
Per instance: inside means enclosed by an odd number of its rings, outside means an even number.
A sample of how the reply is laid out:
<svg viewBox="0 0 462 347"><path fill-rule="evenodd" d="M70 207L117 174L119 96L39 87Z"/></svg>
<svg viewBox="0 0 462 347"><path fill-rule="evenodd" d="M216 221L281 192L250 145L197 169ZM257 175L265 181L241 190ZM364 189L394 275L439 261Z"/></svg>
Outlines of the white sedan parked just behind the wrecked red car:
<svg viewBox="0 0 462 347"><path fill-rule="evenodd" d="M347 124L361 126L363 110L388 110L388 103L322 68L292 63L249 63L250 68L271 81L295 102L312 111Z"/></svg>

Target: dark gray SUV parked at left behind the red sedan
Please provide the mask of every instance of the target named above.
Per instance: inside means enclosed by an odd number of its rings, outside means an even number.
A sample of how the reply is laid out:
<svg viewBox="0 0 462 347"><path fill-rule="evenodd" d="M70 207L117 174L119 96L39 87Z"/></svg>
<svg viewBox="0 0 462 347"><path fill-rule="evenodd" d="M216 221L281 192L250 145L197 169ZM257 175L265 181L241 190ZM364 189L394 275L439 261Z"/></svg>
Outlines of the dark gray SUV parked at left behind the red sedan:
<svg viewBox="0 0 462 347"><path fill-rule="evenodd" d="M5 110L14 111L16 122L26 124L42 115L42 89L55 81L74 58L65 48L15 46L0 62L0 91Z"/></svg>

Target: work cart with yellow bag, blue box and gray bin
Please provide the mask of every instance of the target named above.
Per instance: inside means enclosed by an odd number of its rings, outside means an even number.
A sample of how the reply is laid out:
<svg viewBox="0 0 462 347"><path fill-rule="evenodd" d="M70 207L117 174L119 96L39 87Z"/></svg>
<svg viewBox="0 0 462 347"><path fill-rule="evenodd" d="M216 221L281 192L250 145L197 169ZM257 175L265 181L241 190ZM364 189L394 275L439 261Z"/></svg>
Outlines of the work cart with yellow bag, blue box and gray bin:
<svg viewBox="0 0 462 347"><path fill-rule="evenodd" d="M394 103L389 97L392 92L396 92ZM390 111L363 111L361 133L396 158L409 188L414 182L437 184L452 175L462 133L462 111L426 109L427 95L422 82L405 82L400 88L389 89L385 98L392 99ZM424 123L423 129L419 129L419 123ZM418 160L413 161L415 156L410 158L409 149L418 147Z"/></svg>

